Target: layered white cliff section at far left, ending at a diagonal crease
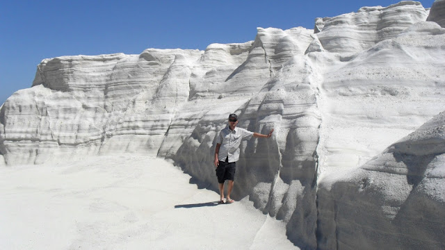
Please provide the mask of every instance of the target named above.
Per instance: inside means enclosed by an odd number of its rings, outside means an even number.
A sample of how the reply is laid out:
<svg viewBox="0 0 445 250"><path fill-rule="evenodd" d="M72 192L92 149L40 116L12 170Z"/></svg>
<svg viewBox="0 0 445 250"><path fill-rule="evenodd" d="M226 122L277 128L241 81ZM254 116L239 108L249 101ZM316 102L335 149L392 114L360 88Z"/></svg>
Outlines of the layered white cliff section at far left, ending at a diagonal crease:
<svg viewBox="0 0 445 250"><path fill-rule="evenodd" d="M201 55L147 49L139 56L43 60L33 88L3 105L6 163L113 152L156 155L174 111L188 100L188 61Z"/></svg>

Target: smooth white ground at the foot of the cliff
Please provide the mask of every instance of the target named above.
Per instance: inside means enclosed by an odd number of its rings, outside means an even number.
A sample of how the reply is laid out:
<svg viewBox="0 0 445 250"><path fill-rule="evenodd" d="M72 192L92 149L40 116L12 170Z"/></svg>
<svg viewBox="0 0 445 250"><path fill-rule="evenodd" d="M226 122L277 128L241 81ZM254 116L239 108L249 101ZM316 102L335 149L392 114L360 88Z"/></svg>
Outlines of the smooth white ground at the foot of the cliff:
<svg viewBox="0 0 445 250"><path fill-rule="evenodd" d="M0 249L298 249L284 224L161 159L0 167Z"/></svg>

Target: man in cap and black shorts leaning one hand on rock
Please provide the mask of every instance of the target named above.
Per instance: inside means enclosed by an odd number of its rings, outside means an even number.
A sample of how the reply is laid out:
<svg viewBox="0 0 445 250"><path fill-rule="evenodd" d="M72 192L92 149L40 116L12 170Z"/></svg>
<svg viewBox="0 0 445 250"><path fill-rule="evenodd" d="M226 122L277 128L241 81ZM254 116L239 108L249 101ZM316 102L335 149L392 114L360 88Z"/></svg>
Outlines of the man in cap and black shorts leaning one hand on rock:
<svg viewBox="0 0 445 250"><path fill-rule="evenodd" d="M270 138L273 133L273 129L270 130L268 135L262 135L260 133L253 133L245 130L244 128L236 128L238 124L238 116L236 114L229 115L229 126L224 128L218 134L216 139L215 149L215 166L216 177L218 177L218 188L220 190L219 203L234 203L233 199L230 199L230 193L234 188L234 176L235 176L235 162L239 159L239 145L241 140L249 140L252 138ZM224 200L224 182L228 180L227 200Z"/></svg>

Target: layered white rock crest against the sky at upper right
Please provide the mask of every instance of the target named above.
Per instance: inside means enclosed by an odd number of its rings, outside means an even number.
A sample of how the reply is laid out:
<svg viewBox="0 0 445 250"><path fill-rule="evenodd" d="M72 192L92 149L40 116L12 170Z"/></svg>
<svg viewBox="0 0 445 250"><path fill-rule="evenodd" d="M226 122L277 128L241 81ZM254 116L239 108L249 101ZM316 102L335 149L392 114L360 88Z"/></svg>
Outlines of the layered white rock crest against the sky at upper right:
<svg viewBox="0 0 445 250"><path fill-rule="evenodd" d="M363 7L358 12L317 19L317 27L323 26L323 32L317 35L327 51L355 53L394 38L412 24L425 21L426 17L428 11L414 1L401 1L385 8Z"/></svg>

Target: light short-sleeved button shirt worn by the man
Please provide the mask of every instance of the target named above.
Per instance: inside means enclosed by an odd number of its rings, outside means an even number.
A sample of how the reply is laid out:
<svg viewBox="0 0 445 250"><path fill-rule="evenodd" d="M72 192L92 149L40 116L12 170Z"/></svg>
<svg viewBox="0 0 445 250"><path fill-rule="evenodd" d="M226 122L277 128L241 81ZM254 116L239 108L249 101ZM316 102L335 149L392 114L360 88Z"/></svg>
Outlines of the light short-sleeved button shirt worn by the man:
<svg viewBox="0 0 445 250"><path fill-rule="evenodd" d="M234 163L239 159L239 145L242 140L249 140L252 138L253 132L245 130L244 128L237 128L232 131L229 126L225 127L218 133L216 143L221 144L218 153L218 160L225 161L229 156L229 163Z"/></svg>

